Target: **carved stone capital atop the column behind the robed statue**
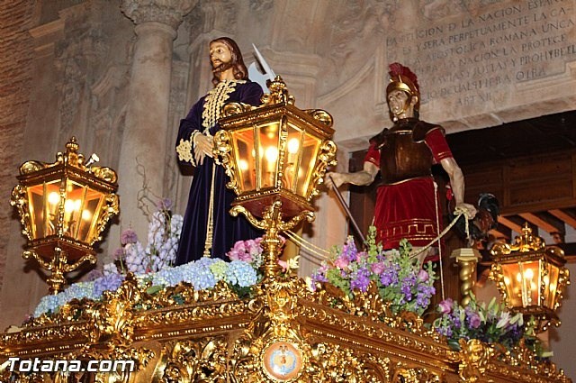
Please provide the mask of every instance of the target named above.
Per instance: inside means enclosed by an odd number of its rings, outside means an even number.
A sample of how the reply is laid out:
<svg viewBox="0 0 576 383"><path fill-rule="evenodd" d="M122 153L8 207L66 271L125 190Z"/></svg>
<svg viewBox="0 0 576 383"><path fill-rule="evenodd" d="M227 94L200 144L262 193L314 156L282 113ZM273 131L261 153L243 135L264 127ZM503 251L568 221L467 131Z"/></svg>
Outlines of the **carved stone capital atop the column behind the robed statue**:
<svg viewBox="0 0 576 383"><path fill-rule="evenodd" d="M122 0L121 11L136 24L164 23L174 30L198 0Z"/></svg>

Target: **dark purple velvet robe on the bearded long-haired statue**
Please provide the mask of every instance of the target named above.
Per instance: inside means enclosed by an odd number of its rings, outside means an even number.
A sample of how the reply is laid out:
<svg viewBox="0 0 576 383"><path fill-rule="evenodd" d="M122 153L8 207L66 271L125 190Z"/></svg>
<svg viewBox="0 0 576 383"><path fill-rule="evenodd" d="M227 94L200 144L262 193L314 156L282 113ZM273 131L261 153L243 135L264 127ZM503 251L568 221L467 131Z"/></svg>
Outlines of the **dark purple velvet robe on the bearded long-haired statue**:
<svg viewBox="0 0 576 383"><path fill-rule="evenodd" d="M247 80L246 83L236 84L236 88L229 93L226 103L242 102L250 105L260 105L262 88L257 83ZM193 132L203 132L202 112L206 96L202 96L198 102L180 122L176 146L181 140L190 141ZM210 128L213 136L220 130L218 123ZM193 155L193 149L192 149ZM190 162L178 159L184 166L191 166ZM214 199L213 199L213 237L211 246L211 257L222 260L229 260L226 252L240 240L254 239L262 235L262 232L255 229L243 215L232 217L229 214L230 205L236 194L226 187L229 177L225 174L224 168L215 165L213 159L206 157L202 165L197 165L194 171L192 186L188 205L184 214L184 224L182 235L176 254L176 265L182 265L191 260L199 260L204 251L206 241L208 209L210 205L212 167L216 166L214 174Z"/></svg>

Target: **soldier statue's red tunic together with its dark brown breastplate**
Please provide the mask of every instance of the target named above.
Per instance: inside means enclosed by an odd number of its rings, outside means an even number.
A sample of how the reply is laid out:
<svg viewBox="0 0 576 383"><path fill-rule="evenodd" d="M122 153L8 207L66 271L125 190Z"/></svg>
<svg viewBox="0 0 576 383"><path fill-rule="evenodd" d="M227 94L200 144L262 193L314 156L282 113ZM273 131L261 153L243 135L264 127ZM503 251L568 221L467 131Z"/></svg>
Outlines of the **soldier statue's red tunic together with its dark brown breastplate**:
<svg viewBox="0 0 576 383"><path fill-rule="evenodd" d="M384 249L398 248L402 238L413 246L437 238L442 219L431 167L450 157L442 127L416 118L400 120L371 140L365 161L378 166L383 176L374 225Z"/></svg>

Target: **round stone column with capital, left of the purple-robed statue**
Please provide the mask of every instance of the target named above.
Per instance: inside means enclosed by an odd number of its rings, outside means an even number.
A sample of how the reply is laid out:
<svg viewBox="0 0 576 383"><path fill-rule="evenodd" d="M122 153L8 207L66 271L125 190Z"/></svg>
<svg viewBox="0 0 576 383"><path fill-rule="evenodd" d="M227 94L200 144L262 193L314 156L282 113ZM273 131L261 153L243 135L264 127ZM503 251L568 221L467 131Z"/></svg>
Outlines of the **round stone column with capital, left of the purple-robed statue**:
<svg viewBox="0 0 576 383"><path fill-rule="evenodd" d="M145 184L152 203L154 195L165 192L172 41L196 1L123 0L121 4L121 11L136 24L137 35L118 169L121 228L131 226L140 240L146 238L148 220L139 208L139 191Z"/></svg>

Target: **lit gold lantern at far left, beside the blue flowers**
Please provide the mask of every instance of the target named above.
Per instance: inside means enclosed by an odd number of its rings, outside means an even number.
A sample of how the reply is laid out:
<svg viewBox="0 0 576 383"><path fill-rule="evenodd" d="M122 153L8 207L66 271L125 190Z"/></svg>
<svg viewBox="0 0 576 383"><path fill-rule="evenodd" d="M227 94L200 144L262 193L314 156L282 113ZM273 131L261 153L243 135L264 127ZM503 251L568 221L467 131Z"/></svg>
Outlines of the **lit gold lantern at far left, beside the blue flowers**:
<svg viewBox="0 0 576 383"><path fill-rule="evenodd" d="M28 242L23 258L34 258L51 271L47 282L53 294L66 284L64 273L85 261L96 262L94 242L100 241L108 220L119 213L116 172L90 166L78 154L76 138L58 152L56 162L27 161L20 167L12 191Z"/></svg>

